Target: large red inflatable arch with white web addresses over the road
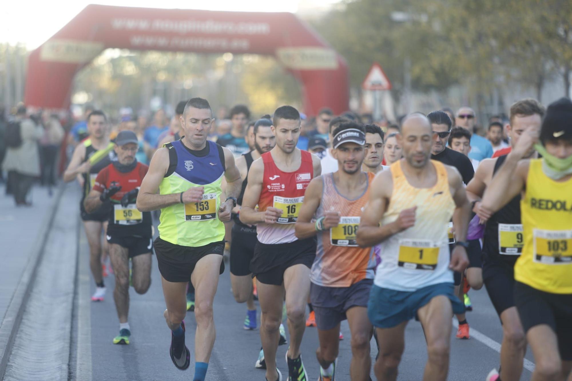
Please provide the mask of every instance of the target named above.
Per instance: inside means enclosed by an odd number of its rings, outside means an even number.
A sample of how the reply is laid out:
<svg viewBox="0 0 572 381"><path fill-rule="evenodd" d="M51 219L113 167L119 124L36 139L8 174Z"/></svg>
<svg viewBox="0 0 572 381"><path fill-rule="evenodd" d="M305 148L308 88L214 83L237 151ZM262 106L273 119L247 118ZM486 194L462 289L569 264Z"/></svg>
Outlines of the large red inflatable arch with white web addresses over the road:
<svg viewBox="0 0 572 381"><path fill-rule="evenodd" d="M102 50L273 55L303 84L304 111L348 108L347 65L291 13L88 5L31 54L25 103L68 108L73 78ZM198 95L198 94L197 94Z"/></svg>

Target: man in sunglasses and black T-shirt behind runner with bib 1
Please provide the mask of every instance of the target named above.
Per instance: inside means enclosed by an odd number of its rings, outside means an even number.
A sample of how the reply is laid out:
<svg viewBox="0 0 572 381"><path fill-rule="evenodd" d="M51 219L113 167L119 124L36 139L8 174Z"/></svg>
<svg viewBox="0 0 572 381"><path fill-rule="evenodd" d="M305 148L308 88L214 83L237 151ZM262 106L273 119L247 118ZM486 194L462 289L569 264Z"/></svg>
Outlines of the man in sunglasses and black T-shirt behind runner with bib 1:
<svg viewBox="0 0 572 381"><path fill-rule="evenodd" d="M447 148L447 139L451 134L451 118L444 111L434 111L427 114L427 118L431 121L431 128L433 130L435 141L431 149L431 160L440 161L443 164L454 166L460 173L463 179L463 184L468 184L471 178L474 176L475 172L472 168L471 161L468 157L464 156L462 153L458 153L450 148ZM448 234L449 234L449 249L455 248L455 236L452 221L448 223ZM467 255L469 259L469 265L466 270L466 277L468 283L474 289L480 289L483 287L483 276L482 276L482 265L481 265L481 249L479 240L468 241L469 247L467 248ZM472 311L471 300L464 292L464 274L455 273L455 295L459 296L459 299L465 304L468 311ZM468 289L467 289L468 291ZM458 339L470 339L469 326L467 323L466 316L463 313L459 313L457 320L459 321L459 327L457 329L456 338Z"/></svg>

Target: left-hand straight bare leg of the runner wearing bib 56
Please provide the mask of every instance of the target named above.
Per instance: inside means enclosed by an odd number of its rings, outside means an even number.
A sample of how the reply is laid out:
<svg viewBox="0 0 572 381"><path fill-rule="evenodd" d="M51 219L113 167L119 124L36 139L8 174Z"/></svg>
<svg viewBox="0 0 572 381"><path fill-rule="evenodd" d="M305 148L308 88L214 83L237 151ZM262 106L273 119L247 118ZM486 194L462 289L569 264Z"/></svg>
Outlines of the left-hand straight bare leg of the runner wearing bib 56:
<svg viewBox="0 0 572 381"><path fill-rule="evenodd" d="M109 244L109 252L115 272L113 299L120 323L127 323L129 314L129 249ZM101 269L101 267L100 267Z"/></svg>

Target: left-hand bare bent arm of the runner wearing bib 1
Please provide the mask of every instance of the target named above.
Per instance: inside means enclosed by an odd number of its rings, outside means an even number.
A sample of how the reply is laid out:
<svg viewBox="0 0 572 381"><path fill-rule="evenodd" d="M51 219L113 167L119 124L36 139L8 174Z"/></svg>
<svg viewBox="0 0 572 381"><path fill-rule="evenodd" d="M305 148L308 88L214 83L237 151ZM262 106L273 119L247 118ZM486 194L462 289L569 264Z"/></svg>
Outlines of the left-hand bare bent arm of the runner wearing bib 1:
<svg viewBox="0 0 572 381"><path fill-rule="evenodd" d="M383 213L386 212L392 188L393 181L390 170L380 172L371 182L370 200L362 212L356 237L360 247L371 247L379 244L402 230L397 221L383 226L379 225Z"/></svg>

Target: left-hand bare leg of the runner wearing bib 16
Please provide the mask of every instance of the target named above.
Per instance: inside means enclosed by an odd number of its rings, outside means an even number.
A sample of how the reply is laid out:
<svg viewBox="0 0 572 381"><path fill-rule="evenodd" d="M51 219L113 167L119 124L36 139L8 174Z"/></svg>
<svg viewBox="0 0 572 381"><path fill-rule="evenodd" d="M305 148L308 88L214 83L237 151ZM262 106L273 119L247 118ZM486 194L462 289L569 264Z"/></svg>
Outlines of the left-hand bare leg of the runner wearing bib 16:
<svg viewBox="0 0 572 381"><path fill-rule="evenodd" d="M279 328L282 321L284 286L264 284L257 280L256 289L258 290L258 300L260 302L260 340L264 350L264 361L266 362L266 378L275 380L276 350L280 340ZM290 338L292 339L292 336Z"/></svg>

